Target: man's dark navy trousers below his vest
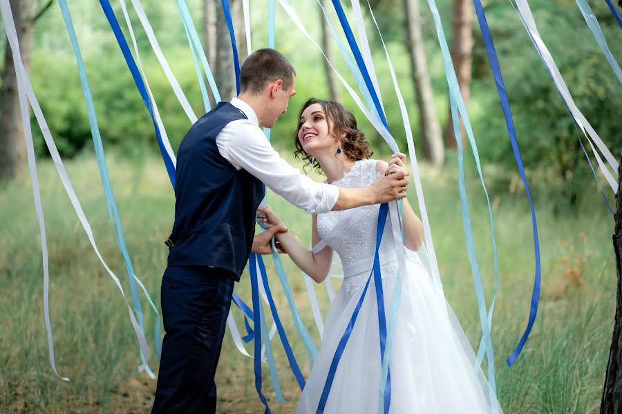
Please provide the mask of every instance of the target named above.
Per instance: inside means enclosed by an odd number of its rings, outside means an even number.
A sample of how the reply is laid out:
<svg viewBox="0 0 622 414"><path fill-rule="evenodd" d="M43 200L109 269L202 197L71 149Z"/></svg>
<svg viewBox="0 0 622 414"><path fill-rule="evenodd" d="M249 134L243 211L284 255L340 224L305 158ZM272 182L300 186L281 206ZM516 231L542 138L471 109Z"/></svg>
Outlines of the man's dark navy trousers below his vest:
<svg viewBox="0 0 622 414"><path fill-rule="evenodd" d="M214 375L234 279L206 266L169 266L162 277L164 342L152 413L215 413Z"/></svg>

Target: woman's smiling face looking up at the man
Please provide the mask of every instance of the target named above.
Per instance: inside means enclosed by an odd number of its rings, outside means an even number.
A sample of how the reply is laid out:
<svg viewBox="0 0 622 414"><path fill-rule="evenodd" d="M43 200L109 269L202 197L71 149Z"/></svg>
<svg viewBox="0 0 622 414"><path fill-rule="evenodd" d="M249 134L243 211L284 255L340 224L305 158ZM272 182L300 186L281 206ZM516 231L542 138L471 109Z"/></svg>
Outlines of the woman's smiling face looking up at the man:
<svg viewBox="0 0 622 414"><path fill-rule="evenodd" d="M319 103L305 108L299 125L298 140L309 155L317 157L323 152L333 152L338 146L337 139L330 135L326 114Z"/></svg>

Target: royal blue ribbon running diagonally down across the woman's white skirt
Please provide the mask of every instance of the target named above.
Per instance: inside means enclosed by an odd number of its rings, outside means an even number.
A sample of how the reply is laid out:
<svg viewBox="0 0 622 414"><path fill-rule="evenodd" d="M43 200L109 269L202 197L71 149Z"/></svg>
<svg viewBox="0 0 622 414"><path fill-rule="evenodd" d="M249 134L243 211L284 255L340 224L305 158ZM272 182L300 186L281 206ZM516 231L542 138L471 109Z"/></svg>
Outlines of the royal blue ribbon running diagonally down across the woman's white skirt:
<svg viewBox="0 0 622 414"><path fill-rule="evenodd" d="M376 253L374 255L374 267L372 269L372 273L367 278L367 282L365 284L365 288L361 293L361 297L359 298L359 302L357 302L357 306L355 307L354 312L352 312L352 317L350 317L350 322L348 322L348 326L346 326L346 331L341 336L339 340L339 345L337 346L337 350L334 352L334 356L332 357L332 362L330 362L330 368L328 369L328 376L326 377L326 383L324 384L324 388L322 390L322 394L317 406L317 414L321 414L324 412L324 408L326 408L326 402L328 401L328 394L330 393L330 388L332 386L332 382L334 381L334 375L337 373L337 366L339 366L339 360L341 359L341 355L343 355L343 351L348 344L348 339L350 339L350 335L352 334L352 329L354 328L355 323L357 322L357 317L359 316L359 311L361 310L361 305L363 304L363 299L365 299L365 295L367 293L367 288L369 287L369 282L371 280L372 274L377 274L380 276L380 260L379 260L379 248L380 242L382 240L382 233L384 232L384 225L386 224L386 216L388 213L388 204L381 204L380 212L378 214L378 227L376 231ZM380 277L379 277L380 279ZM374 283L377 285L378 283ZM376 286L377 288L377 286ZM384 308L384 302L382 304L378 304L378 307ZM385 333L386 335L386 333ZM388 378L388 377L387 377ZM387 380L386 387L389 388L390 384ZM386 395L386 392L385 392ZM385 410L388 410L388 406L386 404L385 399Z"/></svg>

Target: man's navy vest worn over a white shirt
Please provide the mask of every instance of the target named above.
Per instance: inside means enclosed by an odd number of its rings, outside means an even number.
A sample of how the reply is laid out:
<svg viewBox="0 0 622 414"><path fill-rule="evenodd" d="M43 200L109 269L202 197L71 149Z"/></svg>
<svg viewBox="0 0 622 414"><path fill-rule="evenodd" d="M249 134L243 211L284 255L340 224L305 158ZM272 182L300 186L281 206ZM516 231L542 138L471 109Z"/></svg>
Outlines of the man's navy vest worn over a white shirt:
<svg viewBox="0 0 622 414"><path fill-rule="evenodd" d="M223 158L216 137L229 122L246 119L220 102L181 141L175 172L175 223L166 244L169 266L221 268L239 280L253 243L263 183Z"/></svg>

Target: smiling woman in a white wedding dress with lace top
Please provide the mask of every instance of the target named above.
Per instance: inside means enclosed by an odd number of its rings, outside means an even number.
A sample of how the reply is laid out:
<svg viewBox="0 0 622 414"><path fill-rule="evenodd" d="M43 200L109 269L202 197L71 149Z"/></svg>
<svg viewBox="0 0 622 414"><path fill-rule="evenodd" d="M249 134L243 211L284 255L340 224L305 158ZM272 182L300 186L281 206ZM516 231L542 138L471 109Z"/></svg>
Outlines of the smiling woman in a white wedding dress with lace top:
<svg viewBox="0 0 622 414"><path fill-rule="evenodd" d="M312 98L304 103L295 145L294 155L320 168L334 186L370 186L379 175L405 168L403 154L394 155L389 163L370 159L373 152L357 128L354 115L337 102ZM303 246L290 231L276 234L294 263L317 283L326 279L334 252L343 265L343 284L326 315L321 349L296 413L379 411L381 351L373 277L365 291L373 268L379 209L376 204L313 215L313 250ZM422 246L422 222L405 198L402 209L406 274L389 362L388 412L501 413L441 286L435 286L415 253ZM268 226L283 224L269 207L258 210ZM379 248L387 314L398 270L392 218L386 219ZM331 373L334 355L364 291L348 342L337 369ZM329 375L334 377L326 391Z"/></svg>

